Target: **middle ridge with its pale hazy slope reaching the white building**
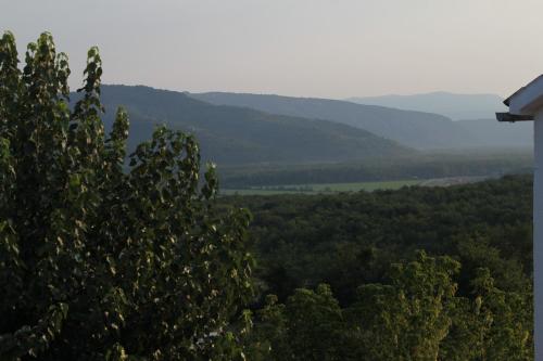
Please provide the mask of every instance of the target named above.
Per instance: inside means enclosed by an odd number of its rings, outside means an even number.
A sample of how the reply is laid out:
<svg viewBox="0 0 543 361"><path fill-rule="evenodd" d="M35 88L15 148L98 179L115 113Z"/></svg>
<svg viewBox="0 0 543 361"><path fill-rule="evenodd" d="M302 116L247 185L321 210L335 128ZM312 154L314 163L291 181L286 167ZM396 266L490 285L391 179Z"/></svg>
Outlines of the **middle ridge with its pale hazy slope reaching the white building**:
<svg viewBox="0 0 543 361"><path fill-rule="evenodd" d="M532 144L530 125L508 127L493 118L453 121L440 114L314 98L225 92L189 95L216 105L341 123L418 150L529 147Z"/></svg>

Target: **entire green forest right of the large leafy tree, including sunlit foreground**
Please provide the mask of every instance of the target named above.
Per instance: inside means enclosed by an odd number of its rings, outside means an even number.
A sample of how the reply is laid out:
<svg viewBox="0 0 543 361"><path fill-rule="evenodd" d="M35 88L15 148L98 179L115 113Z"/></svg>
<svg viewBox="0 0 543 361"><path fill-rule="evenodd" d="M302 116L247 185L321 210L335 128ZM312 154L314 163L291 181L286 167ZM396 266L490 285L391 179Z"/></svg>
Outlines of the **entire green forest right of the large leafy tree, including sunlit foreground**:
<svg viewBox="0 0 543 361"><path fill-rule="evenodd" d="M258 357L530 359L531 177L223 202L254 217Z"/></svg>

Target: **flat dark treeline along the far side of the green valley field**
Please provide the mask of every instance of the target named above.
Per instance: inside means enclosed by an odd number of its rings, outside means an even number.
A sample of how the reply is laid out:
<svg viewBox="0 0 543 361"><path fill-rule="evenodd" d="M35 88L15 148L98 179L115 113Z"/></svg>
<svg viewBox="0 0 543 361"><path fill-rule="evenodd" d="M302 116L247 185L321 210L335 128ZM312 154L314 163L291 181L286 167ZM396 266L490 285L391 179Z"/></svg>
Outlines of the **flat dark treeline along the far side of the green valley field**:
<svg viewBox="0 0 543 361"><path fill-rule="evenodd" d="M222 188L242 189L261 185L372 182L446 177L501 177L508 173L531 172L532 164L533 157L528 152L432 154L382 158L356 164L219 167L219 175Z"/></svg>

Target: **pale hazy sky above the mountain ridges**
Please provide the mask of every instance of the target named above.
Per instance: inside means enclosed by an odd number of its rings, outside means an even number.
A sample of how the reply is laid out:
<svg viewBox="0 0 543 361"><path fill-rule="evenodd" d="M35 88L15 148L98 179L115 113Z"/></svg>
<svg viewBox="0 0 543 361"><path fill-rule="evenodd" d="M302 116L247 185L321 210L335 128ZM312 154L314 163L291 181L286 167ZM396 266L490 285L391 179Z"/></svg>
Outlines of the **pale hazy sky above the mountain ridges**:
<svg viewBox="0 0 543 361"><path fill-rule="evenodd" d="M22 54L51 31L81 82L342 99L507 96L543 73L541 0L0 0ZM24 56L22 56L24 57Z"/></svg>

